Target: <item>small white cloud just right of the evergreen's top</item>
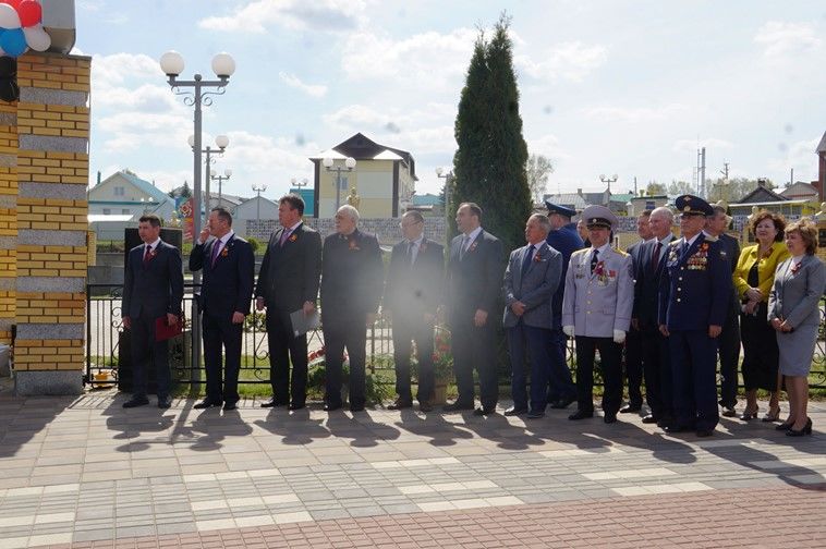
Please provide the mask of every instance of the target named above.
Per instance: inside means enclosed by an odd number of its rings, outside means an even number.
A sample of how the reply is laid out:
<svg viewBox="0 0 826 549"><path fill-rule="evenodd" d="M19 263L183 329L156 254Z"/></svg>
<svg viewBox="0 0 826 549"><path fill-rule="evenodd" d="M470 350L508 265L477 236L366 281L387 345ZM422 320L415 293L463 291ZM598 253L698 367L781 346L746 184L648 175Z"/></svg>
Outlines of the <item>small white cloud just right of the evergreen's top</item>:
<svg viewBox="0 0 826 549"><path fill-rule="evenodd" d="M573 82L581 82L605 64L607 59L608 50L605 46L588 46L581 41L558 44L546 52L542 61L534 61L521 51L513 56L517 68L529 76L546 81L566 78Z"/></svg>

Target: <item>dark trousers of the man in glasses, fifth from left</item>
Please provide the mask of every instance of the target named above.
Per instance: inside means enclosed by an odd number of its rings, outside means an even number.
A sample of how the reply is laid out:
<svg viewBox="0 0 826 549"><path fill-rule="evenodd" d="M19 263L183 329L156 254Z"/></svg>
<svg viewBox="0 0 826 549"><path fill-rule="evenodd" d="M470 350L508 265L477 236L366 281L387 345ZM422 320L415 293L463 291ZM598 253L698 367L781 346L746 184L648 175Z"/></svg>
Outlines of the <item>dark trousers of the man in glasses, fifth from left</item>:
<svg viewBox="0 0 826 549"><path fill-rule="evenodd" d="M424 315L416 318L409 316L393 317L393 363L396 364L396 393L400 399L411 401L410 389L410 355L413 352L412 341L416 342L418 359L418 391L416 400L426 402L434 396L436 385L433 371L433 325L425 322Z"/></svg>

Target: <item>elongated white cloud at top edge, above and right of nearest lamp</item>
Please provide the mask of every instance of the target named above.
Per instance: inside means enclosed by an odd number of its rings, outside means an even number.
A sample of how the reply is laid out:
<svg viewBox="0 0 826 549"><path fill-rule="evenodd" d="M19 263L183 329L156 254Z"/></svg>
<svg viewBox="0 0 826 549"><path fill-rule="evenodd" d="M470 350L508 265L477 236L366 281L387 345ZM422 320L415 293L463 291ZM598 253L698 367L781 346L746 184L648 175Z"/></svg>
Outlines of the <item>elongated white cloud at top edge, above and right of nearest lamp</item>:
<svg viewBox="0 0 826 549"><path fill-rule="evenodd" d="M210 30L264 33L269 25L293 29L352 30L362 22L363 0L256 0L231 15L205 17Z"/></svg>

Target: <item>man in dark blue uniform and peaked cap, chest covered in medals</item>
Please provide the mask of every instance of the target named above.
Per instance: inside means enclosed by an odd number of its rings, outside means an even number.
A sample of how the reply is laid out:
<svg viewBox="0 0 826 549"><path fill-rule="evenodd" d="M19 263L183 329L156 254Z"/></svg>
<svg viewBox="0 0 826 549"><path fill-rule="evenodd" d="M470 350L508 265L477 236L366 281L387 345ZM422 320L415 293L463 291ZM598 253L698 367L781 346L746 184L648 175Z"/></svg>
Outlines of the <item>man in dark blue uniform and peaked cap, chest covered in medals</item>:
<svg viewBox="0 0 826 549"><path fill-rule="evenodd" d="M676 206L682 237L668 245L659 279L659 330L669 339L675 419L668 432L696 430L708 437L717 411L717 338L726 321L731 271L720 242L703 232L714 210L704 199L682 195Z"/></svg>

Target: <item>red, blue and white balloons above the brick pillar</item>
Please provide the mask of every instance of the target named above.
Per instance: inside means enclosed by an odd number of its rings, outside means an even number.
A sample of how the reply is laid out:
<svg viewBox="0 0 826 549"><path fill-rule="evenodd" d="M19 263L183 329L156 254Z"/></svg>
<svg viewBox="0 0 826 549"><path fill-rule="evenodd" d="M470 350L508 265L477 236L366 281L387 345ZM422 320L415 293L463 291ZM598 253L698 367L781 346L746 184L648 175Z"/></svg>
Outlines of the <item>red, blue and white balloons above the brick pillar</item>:
<svg viewBox="0 0 826 549"><path fill-rule="evenodd" d="M51 37L42 28L37 0L0 0L0 56L17 58L28 48L46 51Z"/></svg>

